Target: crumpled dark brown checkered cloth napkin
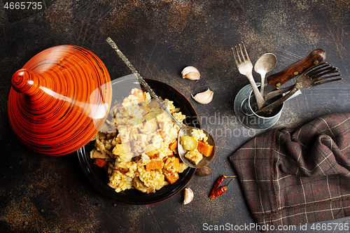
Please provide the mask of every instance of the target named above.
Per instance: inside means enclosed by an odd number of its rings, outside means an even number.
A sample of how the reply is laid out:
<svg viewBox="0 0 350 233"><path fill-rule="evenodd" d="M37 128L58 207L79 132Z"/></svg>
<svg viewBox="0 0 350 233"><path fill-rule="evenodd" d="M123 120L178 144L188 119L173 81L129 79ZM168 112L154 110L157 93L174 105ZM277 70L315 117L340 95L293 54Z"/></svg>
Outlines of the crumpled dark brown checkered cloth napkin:
<svg viewBox="0 0 350 233"><path fill-rule="evenodd" d="M350 113L262 133L230 160L261 229L350 216Z"/></svg>

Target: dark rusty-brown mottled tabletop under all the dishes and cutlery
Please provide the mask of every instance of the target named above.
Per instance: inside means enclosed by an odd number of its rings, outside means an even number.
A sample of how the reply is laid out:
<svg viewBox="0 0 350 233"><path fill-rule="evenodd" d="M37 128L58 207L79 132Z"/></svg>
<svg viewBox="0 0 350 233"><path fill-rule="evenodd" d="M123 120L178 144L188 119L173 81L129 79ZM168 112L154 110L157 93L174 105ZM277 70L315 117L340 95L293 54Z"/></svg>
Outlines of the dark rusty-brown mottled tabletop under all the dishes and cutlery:
<svg viewBox="0 0 350 233"><path fill-rule="evenodd" d="M272 73L322 48L326 61L337 66L344 78L303 90L300 97L286 102L274 127L296 127L320 115L350 111L349 1L49 0L43 1L41 10L6 10L6 2L0 2L1 232L208 232L206 224L253 224L237 181L222 197L208 198L219 175L235 174L228 157L260 133L239 125L233 111L235 95L248 84L230 51L241 41L253 62L265 52L276 55L278 64ZM10 79L45 48L80 45L102 59L112 78L129 74L105 42L108 36L144 78L172 85L188 97L204 129L216 136L213 173L190 181L195 199L186 206L181 192L151 206L106 199L83 176L76 153L37 155L22 146L10 129ZM181 70L188 65L200 70L199 81L181 78ZM258 81L258 74L253 75ZM191 94L208 87L214 91L210 104L191 99ZM308 232L313 232L311 226L307 225Z"/></svg>

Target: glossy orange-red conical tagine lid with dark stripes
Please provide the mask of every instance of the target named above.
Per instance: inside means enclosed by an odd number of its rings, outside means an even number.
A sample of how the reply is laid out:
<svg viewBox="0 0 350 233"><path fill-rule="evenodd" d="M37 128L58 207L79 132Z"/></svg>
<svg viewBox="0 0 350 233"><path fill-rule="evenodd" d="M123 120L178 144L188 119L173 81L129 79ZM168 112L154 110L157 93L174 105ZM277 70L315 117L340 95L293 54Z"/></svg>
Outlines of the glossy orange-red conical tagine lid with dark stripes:
<svg viewBox="0 0 350 233"><path fill-rule="evenodd" d="M85 146L109 113L111 78L89 50L58 45L39 52L15 72L8 118L18 139L45 155Z"/></svg>

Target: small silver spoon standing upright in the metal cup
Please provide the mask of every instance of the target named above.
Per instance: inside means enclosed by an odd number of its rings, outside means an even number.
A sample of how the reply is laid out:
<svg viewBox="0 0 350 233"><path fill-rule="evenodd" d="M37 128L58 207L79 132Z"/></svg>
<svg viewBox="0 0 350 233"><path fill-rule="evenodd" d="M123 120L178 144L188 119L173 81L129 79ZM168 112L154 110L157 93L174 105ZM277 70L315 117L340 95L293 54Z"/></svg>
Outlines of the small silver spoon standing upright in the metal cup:
<svg viewBox="0 0 350 233"><path fill-rule="evenodd" d="M272 71L277 64L276 56L269 52L262 55L258 61L255 63L254 71L260 73L261 76L261 86L260 93L264 96L264 86L265 86L265 76L266 73Z"/></svg>

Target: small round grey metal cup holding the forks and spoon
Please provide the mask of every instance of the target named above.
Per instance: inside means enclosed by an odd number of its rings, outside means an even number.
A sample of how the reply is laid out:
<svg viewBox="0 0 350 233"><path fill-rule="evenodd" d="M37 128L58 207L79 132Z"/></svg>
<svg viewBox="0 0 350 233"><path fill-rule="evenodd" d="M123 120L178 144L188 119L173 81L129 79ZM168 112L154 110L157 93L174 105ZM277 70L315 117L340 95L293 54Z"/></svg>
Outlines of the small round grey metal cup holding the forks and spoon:
<svg viewBox="0 0 350 233"><path fill-rule="evenodd" d="M256 83L256 85L259 87L260 83ZM269 101L271 101L272 103L273 101L279 98L280 96L274 97ZM246 85L241 90L239 90L234 102L234 109L239 122L241 122L242 125L249 129L262 130L272 127L272 125L274 125L277 122L277 120L279 120L284 103L281 104L281 106L279 106L278 108L276 108L271 116L265 118L254 113L251 107L253 106L254 102L256 101L250 84Z"/></svg>

